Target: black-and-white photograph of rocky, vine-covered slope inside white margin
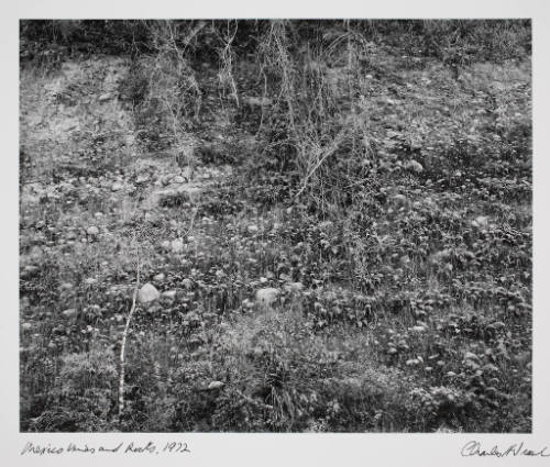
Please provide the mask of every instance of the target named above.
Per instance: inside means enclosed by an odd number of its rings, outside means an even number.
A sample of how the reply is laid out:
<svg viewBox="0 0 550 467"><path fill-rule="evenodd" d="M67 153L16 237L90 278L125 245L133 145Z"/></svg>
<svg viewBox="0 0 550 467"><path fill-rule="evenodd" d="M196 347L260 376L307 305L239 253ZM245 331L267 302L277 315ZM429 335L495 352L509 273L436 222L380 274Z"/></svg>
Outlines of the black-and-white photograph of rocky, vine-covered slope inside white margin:
<svg viewBox="0 0 550 467"><path fill-rule="evenodd" d="M531 433L530 20L19 27L22 433Z"/></svg>

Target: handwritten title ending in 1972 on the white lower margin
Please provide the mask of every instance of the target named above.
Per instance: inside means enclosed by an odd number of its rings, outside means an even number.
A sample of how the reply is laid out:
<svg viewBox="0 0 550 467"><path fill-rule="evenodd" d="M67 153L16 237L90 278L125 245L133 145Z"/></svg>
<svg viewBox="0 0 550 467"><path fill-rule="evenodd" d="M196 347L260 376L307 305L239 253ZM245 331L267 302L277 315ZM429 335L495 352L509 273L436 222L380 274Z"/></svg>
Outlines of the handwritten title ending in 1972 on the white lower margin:
<svg viewBox="0 0 550 467"><path fill-rule="evenodd" d="M22 456L28 455L61 455L61 454L180 454L190 453L187 443L168 442L163 445L148 441L147 443L116 443L107 445L90 445L87 443L68 443L67 445L34 444L28 442L21 449Z"/></svg>

